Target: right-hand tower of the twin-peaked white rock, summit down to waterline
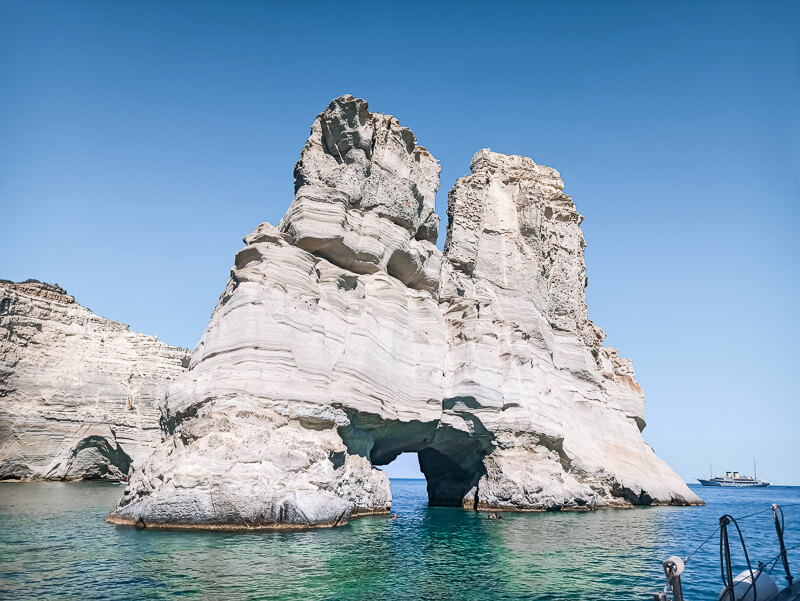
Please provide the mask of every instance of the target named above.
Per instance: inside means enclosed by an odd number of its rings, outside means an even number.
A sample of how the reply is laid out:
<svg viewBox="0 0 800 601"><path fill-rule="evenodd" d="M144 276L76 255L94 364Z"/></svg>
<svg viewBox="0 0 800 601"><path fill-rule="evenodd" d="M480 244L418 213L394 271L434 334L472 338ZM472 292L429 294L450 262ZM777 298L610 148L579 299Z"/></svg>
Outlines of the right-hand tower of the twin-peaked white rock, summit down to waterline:
<svg viewBox="0 0 800 601"><path fill-rule="evenodd" d="M445 407L492 433L480 509L697 503L641 437L628 359L587 316L581 215L554 169L481 150L448 199Z"/></svg>

